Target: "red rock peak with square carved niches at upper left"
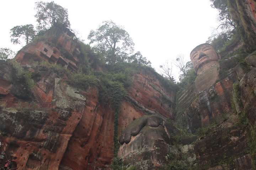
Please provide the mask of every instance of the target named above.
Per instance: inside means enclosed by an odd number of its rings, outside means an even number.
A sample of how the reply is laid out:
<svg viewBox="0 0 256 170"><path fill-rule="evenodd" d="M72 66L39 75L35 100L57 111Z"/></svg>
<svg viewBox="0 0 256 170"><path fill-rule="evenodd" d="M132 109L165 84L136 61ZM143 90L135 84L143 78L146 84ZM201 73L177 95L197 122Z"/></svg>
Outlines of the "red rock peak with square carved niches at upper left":
<svg viewBox="0 0 256 170"><path fill-rule="evenodd" d="M58 36L56 36L58 35ZM33 61L48 61L60 64L69 70L77 70L78 44L73 41L73 33L68 28L53 27L38 42L23 47L16 55L16 61L28 64Z"/></svg>

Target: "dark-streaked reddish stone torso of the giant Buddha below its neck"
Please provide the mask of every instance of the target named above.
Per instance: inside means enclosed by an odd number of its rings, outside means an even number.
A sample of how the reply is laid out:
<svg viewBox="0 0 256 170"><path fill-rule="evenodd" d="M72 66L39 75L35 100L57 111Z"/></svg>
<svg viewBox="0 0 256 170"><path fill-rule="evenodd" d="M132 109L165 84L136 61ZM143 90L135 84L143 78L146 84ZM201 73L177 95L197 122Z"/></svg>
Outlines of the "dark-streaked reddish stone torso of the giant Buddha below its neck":
<svg viewBox="0 0 256 170"><path fill-rule="evenodd" d="M228 70L228 75L222 80L214 83L208 89L198 93L196 86L185 87L180 94L177 95L176 113L178 119L185 119L184 126L195 133L196 129L206 127L213 123L214 119L219 120L223 114L229 115L233 113L231 98L233 96L233 83L237 81L237 74L233 69L237 62L234 58L229 58L220 63L220 70ZM224 71L222 71L224 72ZM221 73L222 73L221 72Z"/></svg>

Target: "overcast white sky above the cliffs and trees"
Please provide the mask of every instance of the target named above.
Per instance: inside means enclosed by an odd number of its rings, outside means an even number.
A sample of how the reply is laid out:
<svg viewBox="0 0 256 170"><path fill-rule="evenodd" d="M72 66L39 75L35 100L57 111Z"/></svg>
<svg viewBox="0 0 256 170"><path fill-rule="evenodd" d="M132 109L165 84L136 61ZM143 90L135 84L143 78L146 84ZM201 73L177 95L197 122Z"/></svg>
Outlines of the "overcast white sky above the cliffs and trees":
<svg viewBox="0 0 256 170"><path fill-rule="evenodd" d="M10 42L10 29L18 25L36 27L34 2L38 0L2 0L1 47L14 51L22 45ZM46 0L46 2L50 0ZM206 42L217 27L218 11L210 7L209 0L54 0L68 9L71 28L88 43L91 29L106 20L121 25L156 71L166 60L175 60L178 54L190 60L190 52ZM24 44L23 44L24 45ZM178 79L178 71L175 73Z"/></svg>

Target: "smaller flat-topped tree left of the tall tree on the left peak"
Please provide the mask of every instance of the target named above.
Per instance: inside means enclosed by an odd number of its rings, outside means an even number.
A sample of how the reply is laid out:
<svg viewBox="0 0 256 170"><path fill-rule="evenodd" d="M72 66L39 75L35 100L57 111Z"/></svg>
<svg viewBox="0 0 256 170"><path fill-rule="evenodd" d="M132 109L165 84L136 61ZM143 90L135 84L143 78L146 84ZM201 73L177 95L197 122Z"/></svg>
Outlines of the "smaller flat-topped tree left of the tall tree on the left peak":
<svg viewBox="0 0 256 170"><path fill-rule="evenodd" d="M20 44L20 38L26 41L26 45L34 38L35 30L32 24L27 24L25 26L15 26L11 30L11 42L14 44Z"/></svg>

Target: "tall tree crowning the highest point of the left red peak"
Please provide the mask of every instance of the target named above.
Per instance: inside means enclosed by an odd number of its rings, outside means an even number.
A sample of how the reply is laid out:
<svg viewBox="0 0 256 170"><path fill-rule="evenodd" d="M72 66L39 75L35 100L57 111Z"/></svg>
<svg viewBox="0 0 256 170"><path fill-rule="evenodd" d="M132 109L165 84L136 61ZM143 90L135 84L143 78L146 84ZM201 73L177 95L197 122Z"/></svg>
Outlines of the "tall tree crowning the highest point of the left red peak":
<svg viewBox="0 0 256 170"><path fill-rule="evenodd" d="M68 10L63 8L62 6L55 4L52 2L36 2L35 9L37 13L35 17L38 22L38 30L48 29L54 26L57 23L66 24L66 26L70 26L68 20Z"/></svg>

